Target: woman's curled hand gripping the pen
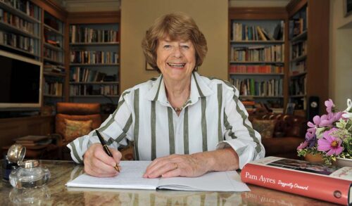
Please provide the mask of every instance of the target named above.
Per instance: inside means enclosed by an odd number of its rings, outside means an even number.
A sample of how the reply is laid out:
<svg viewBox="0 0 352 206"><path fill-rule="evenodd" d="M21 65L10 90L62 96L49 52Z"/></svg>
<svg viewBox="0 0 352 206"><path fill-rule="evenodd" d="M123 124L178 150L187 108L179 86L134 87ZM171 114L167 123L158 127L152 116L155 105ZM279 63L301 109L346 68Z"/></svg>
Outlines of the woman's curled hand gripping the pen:
<svg viewBox="0 0 352 206"><path fill-rule="evenodd" d="M110 177L119 174L115 165L120 163L121 153L118 150L109 148L113 157L110 157L103 150L100 143L94 143L83 155L84 172L92 176Z"/></svg>

